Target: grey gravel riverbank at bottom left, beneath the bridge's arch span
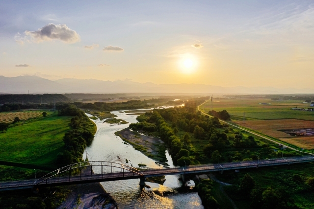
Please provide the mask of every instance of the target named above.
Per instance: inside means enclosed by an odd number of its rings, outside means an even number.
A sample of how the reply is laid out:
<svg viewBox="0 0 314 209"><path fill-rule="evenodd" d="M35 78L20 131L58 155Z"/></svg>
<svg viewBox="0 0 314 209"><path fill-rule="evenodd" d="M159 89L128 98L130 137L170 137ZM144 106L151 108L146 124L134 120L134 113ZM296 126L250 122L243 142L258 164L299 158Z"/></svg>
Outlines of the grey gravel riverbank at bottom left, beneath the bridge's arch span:
<svg viewBox="0 0 314 209"><path fill-rule="evenodd" d="M90 175L89 169L82 170ZM106 193L100 183L88 183L69 186L66 200L57 209L118 209L118 204Z"/></svg>

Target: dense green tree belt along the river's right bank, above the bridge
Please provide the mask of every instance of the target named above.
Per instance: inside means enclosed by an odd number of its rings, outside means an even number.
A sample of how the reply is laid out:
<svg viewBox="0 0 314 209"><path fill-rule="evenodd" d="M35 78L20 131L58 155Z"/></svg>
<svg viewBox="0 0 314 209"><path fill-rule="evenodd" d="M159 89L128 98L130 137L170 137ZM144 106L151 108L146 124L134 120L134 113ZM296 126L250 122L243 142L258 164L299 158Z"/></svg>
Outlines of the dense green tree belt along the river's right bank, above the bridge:
<svg viewBox="0 0 314 209"><path fill-rule="evenodd" d="M156 127L161 139L170 147L169 150L174 163L182 166L192 164L191 159L195 158L195 153L189 150L190 135L194 135L194 138L197 139L206 140L210 137L210 130L215 129L215 127L222 127L218 118L209 118L209 116L203 116L200 112L196 112L196 106L201 102L187 102L183 108L155 109L153 113L148 112L138 116L137 119L140 122L131 124L130 127L142 130L148 130L147 127ZM186 132L183 139L176 135L179 129Z"/></svg>

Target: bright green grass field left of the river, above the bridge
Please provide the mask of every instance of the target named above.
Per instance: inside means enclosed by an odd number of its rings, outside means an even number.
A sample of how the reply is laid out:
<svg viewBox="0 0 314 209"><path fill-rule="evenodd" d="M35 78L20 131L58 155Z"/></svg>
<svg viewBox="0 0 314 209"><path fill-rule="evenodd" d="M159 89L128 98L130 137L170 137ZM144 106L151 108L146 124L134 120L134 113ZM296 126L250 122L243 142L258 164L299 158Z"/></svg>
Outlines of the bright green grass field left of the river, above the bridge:
<svg viewBox="0 0 314 209"><path fill-rule="evenodd" d="M71 128L71 118L52 114L8 128L0 134L0 161L14 166L21 163L21 167L54 168L56 155L64 147L62 138Z"/></svg>

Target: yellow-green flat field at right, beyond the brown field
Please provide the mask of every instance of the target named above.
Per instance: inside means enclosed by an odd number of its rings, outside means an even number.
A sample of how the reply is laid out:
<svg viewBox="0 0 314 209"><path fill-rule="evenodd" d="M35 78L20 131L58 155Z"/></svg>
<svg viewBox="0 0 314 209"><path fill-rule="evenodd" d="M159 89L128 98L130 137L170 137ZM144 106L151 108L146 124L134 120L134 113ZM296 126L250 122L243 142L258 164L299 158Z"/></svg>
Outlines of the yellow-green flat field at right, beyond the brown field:
<svg viewBox="0 0 314 209"><path fill-rule="evenodd" d="M304 119L314 120L314 112L290 110L290 108L313 108L304 101L272 101L270 99L223 99L214 100L211 108L210 101L200 107L205 112L227 110L231 119L242 120L243 112L246 119ZM262 105L259 103L271 103Z"/></svg>

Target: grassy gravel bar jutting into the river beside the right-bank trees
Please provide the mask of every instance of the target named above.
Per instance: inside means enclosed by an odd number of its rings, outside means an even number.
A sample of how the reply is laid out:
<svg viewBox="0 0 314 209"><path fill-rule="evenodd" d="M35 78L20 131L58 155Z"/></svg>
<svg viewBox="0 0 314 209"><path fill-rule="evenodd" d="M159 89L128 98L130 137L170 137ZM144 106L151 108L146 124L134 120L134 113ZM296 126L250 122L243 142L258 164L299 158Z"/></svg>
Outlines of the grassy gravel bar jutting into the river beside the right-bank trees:
<svg viewBox="0 0 314 209"><path fill-rule="evenodd" d="M125 128L115 132L125 142L131 144L134 149L140 151L147 157L157 161L160 164L168 165L165 155L165 144L157 137L140 134L137 131L132 131L130 128Z"/></svg>

